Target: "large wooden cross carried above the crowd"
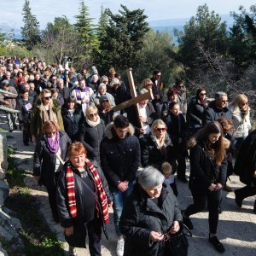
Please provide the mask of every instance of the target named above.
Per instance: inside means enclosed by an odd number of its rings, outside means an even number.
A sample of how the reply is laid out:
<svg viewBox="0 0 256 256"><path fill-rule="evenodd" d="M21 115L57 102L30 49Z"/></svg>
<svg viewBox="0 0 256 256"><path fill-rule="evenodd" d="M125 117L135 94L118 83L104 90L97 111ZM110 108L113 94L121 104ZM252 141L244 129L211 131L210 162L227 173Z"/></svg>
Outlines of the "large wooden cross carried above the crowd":
<svg viewBox="0 0 256 256"><path fill-rule="evenodd" d="M148 92L137 96L137 91L135 89L135 84L134 84L134 80L133 80L133 77L132 77L131 68L127 69L127 76L128 76L129 85L130 85L131 100L120 103L119 105L113 107L112 110L113 110L113 112L115 112L115 111L119 111L119 110L124 109L124 108L131 107L132 105L135 105L136 110L137 110L137 116L139 117L140 116L140 111L139 111L138 102L141 102L141 101L144 101L144 100L153 100L154 95L153 95L152 90L149 89ZM140 122L140 124L141 124L141 128L143 128L143 123Z"/></svg>

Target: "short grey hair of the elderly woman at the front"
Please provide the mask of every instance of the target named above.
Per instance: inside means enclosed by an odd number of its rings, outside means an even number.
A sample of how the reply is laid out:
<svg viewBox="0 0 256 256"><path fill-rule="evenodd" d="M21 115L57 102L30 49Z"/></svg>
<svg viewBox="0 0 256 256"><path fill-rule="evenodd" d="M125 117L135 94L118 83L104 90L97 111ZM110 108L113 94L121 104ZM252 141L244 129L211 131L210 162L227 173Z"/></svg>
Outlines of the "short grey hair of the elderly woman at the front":
<svg viewBox="0 0 256 256"><path fill-rule="evenodd" d="M155 188L164 183L165 177L153 166L147 166L138 177L138 183L143 189Z"/></svg>

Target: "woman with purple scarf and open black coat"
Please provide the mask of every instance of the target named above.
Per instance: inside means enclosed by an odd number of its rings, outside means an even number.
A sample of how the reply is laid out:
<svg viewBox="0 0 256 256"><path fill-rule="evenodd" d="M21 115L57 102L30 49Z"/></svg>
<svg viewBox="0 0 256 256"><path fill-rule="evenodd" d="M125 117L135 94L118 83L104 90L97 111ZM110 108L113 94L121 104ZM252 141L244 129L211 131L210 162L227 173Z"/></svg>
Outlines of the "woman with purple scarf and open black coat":
<svg viewBox="0 0 256 256"><path fill-rule="evenodd" d="M63 161L67 160L67 148L71 143L65 131L53 121L45 121L44 135L39 137L36 144L33 163L33 176L46 187L49 196L49 206L55 222L59 222L56 185L61 173Z"/></svg>

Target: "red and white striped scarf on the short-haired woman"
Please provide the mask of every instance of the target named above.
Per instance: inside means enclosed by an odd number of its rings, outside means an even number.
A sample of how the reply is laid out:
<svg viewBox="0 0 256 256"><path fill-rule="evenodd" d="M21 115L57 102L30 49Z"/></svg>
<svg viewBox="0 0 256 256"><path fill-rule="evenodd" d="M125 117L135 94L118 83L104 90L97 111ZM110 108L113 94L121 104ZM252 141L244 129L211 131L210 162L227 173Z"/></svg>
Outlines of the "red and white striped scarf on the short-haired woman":
<svg viewBox="0 0 256 256"><path fill-rule="evenodd" d="M104 223L108 224L109 223L108 198L102 186L101 178L99 177L99 174L96 171L96 168L92 165L90 160L86 159L85 163L89 167L89 171L92 174L92 177L94 178L94 181L96 183L96 191L98 194L100 205L102 207L102 217L103 217ZM77 212L77 206L76 206L74 175L73 175L73 170L71 166L67 166L66 181L67 181L67 200L68 200L69 212L72 218L75 218L78 212Z"/></svg>

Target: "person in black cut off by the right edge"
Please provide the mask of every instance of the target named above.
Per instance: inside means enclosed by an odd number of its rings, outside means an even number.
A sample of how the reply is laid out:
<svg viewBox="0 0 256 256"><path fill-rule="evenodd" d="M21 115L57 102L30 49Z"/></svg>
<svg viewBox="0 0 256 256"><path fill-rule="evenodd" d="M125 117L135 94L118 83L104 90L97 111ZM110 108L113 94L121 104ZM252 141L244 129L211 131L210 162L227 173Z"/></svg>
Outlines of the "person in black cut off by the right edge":
<svg viewBox="0 0 256 256"><path fill-rule="evenodd" d="M245 198L256 195L256 130L252 131L241 144L234 172L240 176L241 183L246 184L245 187L235 190L236 205L241 207ZM253 211L256 212L256 201Z"/></svg>

